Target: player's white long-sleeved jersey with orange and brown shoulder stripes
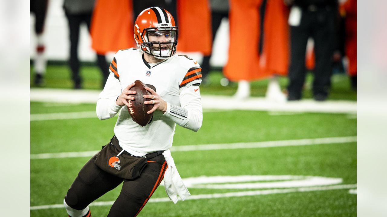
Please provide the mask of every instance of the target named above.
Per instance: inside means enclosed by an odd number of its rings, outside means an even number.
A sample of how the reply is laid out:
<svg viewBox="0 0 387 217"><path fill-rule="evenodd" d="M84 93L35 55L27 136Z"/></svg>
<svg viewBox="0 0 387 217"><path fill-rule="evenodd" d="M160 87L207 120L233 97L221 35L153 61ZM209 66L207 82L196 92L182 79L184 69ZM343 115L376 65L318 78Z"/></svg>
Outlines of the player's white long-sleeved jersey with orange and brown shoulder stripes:
<svg viewBox="0 0 387 217"><path fill-rule="evenodd" d="M202 125L202 105L199 85L201 68L193 59L174 55L161 63L149 64L140 49L118 51L110 64L111 74L97 102L99 119L118 113L114 133L120 146L135 156L165 151L172 146L176 124L198 131ZM151 123L144 127L134 122L127 106L116 105L122 90L135 80L153 85L167 102L163 114L156 110Z"/></svg>

